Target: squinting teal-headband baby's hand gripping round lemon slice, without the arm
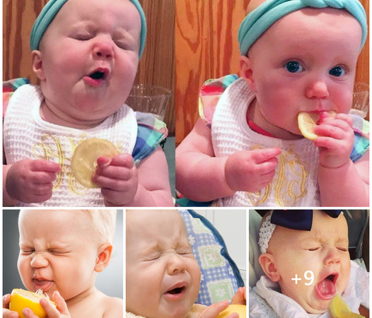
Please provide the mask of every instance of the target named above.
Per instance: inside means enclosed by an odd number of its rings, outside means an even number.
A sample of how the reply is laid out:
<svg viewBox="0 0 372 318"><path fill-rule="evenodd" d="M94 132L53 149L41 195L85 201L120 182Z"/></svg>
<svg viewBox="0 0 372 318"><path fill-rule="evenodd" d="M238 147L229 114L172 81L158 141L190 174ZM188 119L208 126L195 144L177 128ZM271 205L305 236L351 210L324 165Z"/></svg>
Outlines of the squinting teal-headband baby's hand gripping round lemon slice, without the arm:
<svg viewBox="0 0 372 318"><path fill-rule="evenodd" d="M123 206L134 199L138 187L138 173L132 155L115 155L97 160L98 167L92 181L102 187L106 206Z"/></svg>

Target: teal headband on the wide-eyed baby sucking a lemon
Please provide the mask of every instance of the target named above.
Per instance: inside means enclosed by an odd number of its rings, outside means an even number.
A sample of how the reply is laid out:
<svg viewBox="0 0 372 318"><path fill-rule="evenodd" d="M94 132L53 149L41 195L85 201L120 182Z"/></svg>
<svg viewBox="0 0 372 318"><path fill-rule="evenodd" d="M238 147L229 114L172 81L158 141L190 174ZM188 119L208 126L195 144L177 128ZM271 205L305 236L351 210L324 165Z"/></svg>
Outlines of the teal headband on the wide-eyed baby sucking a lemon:
<svg viewBox="0 0 372 318"><path fill-rule="evenodd" d="M367 38L367 17L359 0L267 0L240 24L238 40L240 54L247 55L252 44L277 20L301 8L338 8L348 11L361 25L364 46Z"/></svg>

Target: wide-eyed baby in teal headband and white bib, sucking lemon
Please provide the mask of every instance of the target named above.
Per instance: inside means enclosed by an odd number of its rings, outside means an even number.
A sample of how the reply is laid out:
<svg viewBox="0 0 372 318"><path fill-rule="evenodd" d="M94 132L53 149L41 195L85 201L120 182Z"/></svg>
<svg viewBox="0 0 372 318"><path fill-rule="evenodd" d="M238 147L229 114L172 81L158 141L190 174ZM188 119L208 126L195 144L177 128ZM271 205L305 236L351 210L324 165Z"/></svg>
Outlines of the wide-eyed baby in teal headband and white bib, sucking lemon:
<svg viewBox="0 0 372 318"><path fill-rule="evenodd" d="M369 206L368 123L348 115L364 8L257 2L240 25L241 78L204 84L202 119L176 149L178 191L217 206ZM300 112L319 119L314 141Z"/></svg>

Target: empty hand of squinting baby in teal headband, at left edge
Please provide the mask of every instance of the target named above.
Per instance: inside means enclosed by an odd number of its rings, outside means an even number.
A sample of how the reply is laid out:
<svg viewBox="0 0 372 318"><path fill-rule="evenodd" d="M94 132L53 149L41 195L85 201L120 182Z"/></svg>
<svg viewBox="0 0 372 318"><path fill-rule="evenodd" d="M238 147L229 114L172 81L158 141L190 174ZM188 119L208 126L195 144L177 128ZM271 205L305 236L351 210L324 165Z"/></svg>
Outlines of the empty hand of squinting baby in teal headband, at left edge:
<svg viewBox="0 0 372 318"><path fill-rule="evenodd" d="M24 203L41 203L52 196L53 181L61 167L48 160L24 159L13 163L6 175L6 192Z"/></svg>

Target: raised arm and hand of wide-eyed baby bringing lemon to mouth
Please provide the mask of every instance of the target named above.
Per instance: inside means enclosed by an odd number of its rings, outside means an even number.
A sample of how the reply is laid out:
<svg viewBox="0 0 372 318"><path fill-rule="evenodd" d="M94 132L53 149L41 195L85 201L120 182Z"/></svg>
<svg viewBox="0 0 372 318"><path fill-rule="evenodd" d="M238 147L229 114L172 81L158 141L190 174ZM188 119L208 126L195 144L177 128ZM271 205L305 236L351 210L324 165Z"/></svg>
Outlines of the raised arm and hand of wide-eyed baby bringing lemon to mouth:
<svg viewBox="0 0 372 318"><path fill-rule="evenodd" d="M337 114L316 127L320 147L318 182L322 206L369 206L369 153L353 163L352 120Z"/></svg>

